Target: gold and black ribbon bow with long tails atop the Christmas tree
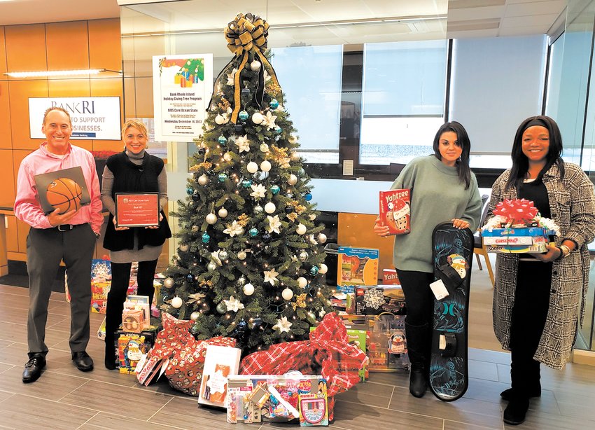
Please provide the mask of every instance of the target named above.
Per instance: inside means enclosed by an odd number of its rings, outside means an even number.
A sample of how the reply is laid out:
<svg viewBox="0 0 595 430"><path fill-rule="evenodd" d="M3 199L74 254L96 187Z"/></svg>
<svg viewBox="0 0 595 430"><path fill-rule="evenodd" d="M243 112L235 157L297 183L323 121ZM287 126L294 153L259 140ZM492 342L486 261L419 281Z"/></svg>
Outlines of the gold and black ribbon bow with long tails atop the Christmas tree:
<svg viewBox="0 0 595 430"><path fill-rule="evenodd" d="M228 41L228 49L235 54L237 58L241 57L241 62L234 76L234 109L232 111L232 123L237 122L237 115L240 109L240 94L239 80L242 69L248 62L250 53L260 60L262 67L258 71L258 88L255 95L256 102L260 108L262 105L262 97L265 90L265 65L270 69L270 76L274 83L279 85L276 79L274 69L268 62L264 55L267 48L267 36L269 34L269 24L251 13L239 13L235 20L230 22L225 27L225 39Z"/></svg>

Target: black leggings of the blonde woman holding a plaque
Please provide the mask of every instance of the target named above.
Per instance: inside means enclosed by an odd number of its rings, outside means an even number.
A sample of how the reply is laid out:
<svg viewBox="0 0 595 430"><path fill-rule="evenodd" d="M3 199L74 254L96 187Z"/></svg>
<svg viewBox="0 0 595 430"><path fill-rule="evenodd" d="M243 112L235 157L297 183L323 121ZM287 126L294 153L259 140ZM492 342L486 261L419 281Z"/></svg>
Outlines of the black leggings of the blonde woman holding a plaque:
<svg viewBox="0 0 595 430"><path fill-rule="evenodd" d="M122 324L122 311L130 283L130 268L132 263L111 263L111 287L107 295L106 309L106 361L111 360L110 356L116 359L114 352L114 333ZM153 278L155 277L157 260L139 261L137 272L138 296L148 296L149 303L153 303Z"/></svg>

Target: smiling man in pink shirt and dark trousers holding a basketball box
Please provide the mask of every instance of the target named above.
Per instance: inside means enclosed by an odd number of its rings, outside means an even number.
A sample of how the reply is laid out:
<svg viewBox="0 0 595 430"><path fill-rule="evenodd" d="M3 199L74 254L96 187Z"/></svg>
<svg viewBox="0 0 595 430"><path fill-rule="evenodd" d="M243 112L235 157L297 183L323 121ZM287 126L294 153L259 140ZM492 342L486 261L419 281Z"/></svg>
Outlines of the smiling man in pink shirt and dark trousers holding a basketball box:
<svg viewBox="0 0 595 430"><path fill-rule="evenodd" d="M15 200L15 216L31 226L27 237L29 361L23 370L22 382L34 382L45 367L45 355L48 354L44 342L45 322L52 279L56 277L61 260L66 265L71 295L69 345L72 360L83 372L93 369L93 360L85 349L90 333L91 260L103 223L99 179L91 153L69 142L72 123L66 110L54 107L45 111L41 130L47 140L22 160ZM83 169L90 204L64 214L56 209L45 215L34 176L77 166Z"/></svg>

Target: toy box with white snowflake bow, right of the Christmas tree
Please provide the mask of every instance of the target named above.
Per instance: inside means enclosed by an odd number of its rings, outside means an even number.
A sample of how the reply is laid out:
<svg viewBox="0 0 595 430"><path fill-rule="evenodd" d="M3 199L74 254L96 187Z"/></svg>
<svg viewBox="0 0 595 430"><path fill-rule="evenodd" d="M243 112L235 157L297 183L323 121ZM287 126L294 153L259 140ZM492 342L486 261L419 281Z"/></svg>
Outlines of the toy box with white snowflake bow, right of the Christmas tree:
<svg viewBox="0 0 595 430"><path fill-rule="evenodd" d="M404 315L405 296L399 285L378 285L356 287L356 314L377 315L391 312Z"/></svg>

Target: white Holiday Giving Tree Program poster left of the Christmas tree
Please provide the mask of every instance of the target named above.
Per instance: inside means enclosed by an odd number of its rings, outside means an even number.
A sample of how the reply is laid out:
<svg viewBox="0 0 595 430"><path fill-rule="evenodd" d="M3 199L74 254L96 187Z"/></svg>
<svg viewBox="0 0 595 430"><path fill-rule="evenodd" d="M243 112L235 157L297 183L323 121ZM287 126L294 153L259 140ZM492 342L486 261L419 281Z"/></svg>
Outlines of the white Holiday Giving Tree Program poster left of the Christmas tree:
<svg viewBox="0 0 595 430"><path fill-rule="evenodd" d="M212 93L212 54L153 56L155 139L191 142L202 134Z"/></svg>

